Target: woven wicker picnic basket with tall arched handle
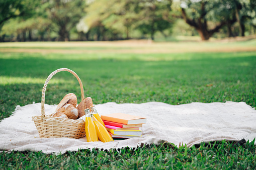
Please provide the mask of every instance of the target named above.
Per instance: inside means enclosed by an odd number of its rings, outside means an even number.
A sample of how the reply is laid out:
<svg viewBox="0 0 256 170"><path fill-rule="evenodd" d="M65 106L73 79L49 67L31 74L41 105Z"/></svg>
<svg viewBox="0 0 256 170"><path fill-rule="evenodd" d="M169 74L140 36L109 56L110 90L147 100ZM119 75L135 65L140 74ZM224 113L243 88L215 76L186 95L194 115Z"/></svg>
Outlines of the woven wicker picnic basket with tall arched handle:
<svg viewBox="0 0 256 170"><path fill-rule="evenodd" d="M84 129L85 123L83 120L51 117L53 113L50 115L45 115L44 98L45 98L46 86L50 81L50 79L52 78L52 76L60 71L70 72L76 77L81 89L81 99L82 100L84 99L82 82L80 78L76 75L76 73L67 68L57 69L48 76L48 78L44 83L44 87L42 90L42 102L41 102L42 115L33 116L32 120L34 121L41 138L48 138L48 137L81 138L86 135L86 132Z"/></svg>

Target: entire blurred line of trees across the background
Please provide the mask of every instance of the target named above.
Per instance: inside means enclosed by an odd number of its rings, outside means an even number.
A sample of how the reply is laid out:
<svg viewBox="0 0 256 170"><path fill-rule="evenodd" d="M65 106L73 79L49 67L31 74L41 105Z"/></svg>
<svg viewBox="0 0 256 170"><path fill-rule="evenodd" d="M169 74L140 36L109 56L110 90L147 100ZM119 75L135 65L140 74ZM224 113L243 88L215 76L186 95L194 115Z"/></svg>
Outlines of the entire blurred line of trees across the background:
<svg viewBox="0 0 256 170"><path fill-rule="evenodd" d="M256 34L254 0L1 0L0 41Z"/></svg>

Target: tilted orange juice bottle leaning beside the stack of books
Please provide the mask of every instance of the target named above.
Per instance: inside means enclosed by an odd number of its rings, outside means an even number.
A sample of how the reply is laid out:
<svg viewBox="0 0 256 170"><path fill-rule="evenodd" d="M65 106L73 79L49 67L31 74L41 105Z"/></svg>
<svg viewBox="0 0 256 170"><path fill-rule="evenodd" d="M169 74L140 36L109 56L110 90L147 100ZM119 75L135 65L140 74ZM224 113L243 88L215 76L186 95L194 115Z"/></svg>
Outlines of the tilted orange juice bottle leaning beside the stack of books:
<svg viewBox="0 0 256 170"><path fill-rule="evenodd" d="M102 141L102 142L108 142L108 141L113 141L113 138L111 137L111 135L109 134L108 130L106 129L106 127L104 127L95 117L94 114L93 115L93 119L94 119L94 125L97 131L97 135L98 138Z"/></svg>

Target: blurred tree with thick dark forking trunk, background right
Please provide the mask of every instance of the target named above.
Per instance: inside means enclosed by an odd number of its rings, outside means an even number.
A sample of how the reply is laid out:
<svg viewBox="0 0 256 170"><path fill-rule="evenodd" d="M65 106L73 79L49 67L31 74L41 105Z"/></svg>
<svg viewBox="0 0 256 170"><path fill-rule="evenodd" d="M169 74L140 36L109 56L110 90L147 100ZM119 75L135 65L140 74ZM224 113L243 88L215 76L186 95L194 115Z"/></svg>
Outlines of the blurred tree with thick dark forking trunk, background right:
<svg viewBox="0 0 256 170"><path fill-rule="evenodd" d="M208 40L223 26L237 21L231 1L182 1L181 12L183 19L198 31L202 40Z"/></svg>

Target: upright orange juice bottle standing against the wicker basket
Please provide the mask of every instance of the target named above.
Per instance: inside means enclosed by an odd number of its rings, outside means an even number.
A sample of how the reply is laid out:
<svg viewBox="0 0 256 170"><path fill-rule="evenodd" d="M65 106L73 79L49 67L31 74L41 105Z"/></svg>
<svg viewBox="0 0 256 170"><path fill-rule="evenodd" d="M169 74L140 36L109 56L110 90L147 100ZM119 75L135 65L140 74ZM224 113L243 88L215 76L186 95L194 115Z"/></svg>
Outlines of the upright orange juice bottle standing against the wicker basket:
<svg viewBox="0 0 256 170"><path fill-rule="evenodd" d="M99 141L97 131L94 125L93 117L91 117L90 109L85 109L86 112L86 138L87 141Z"/></svg>

